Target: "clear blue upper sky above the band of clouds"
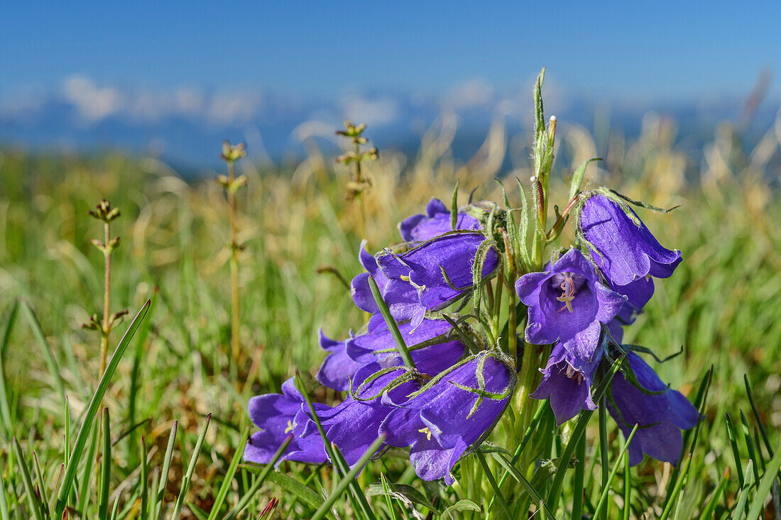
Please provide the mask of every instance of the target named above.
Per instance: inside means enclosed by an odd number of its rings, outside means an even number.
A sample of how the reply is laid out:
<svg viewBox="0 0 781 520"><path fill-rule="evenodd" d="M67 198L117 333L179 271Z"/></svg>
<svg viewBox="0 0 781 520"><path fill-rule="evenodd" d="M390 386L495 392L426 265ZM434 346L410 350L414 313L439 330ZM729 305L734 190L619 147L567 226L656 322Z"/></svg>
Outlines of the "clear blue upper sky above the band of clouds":
<svg viewBox="0 0 781 520"><path fill-rule="evenodd" d="M778 2L3 4L0 91L80 74L329 98L509 87L545 65L569 89L677 98L742 93L759 69L781 69Z"/></svg>

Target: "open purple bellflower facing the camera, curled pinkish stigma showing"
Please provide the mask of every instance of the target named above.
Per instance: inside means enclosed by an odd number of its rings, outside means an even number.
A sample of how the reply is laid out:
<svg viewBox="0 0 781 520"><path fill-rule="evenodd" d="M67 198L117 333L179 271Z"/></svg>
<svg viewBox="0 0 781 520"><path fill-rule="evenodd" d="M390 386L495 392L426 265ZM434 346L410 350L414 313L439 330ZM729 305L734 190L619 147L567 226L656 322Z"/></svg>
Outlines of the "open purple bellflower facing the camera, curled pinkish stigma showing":
<svg viewBox="0 0 781 520"><path fill-rule="evenodd" d="M544 272L521 276L515 291L529 308L526 341L558 341L581 359L593 357L601 323L612 320L626 301L597 281L594 266L576 248Z"/></svg>

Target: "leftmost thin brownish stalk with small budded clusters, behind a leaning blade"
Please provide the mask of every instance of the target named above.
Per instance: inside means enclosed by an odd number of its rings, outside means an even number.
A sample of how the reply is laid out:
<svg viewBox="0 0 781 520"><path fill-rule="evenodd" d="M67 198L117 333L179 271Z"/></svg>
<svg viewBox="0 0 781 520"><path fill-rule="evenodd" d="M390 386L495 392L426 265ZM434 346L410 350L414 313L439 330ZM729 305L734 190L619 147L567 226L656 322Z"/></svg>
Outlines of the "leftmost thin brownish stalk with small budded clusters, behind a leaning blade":
<svg viewBox="0 0 781 520"><path fill-rule="evenodd" d="M95 210L90 210L89 215L103 223L103 240L92 240L92 244L103 253L103 316L97 314L90 316L90 321L82 325L88 330L97 330L100 333L100 373L105 372L106 357L109 352L109 334L111 329L127 314L127 309L111 314L111 255L119 247L119 237L111 236L112 220L119 217L119 208L112 208L111 203L105 199L98 202ZM98 376L98 377L99 377Z"/></svg>

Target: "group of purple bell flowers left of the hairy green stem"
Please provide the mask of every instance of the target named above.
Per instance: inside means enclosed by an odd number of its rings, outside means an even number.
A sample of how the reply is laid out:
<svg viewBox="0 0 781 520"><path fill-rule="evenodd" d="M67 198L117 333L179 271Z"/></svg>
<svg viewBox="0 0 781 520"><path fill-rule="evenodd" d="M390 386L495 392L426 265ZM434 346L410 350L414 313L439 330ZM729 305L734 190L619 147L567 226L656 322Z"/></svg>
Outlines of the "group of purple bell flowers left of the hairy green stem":
<svg viewBox="0 0 781 520"><path fill-rule="evenodd" d="M478 347L483 337L441 311L494 276L500 251L480 219L466 212L454 219L437 199L399 229L402 244L369 255L364 242L358 252L366 272L352 280L351 295L370 315L366 326L344 340L320 333L327 355L317 379L346 392L344 401L309 408L292 379L282 394L252 397L249 413L260 431L246 460L269 463L292 433L281 460L328 461L317 419L349 465L383 435L380 450L409 448L420 478L450 484L458 459L490 433L515 388L514 362L495 345Z"/></svg>

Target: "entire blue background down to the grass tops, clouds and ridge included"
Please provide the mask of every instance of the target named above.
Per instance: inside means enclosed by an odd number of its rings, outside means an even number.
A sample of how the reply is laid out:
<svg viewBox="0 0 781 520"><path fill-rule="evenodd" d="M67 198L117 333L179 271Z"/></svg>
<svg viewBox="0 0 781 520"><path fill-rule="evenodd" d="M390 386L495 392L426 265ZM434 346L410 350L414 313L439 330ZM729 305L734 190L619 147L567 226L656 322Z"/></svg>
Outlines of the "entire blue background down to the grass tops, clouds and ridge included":
<svg viewBox="0 0 781 520"><path fill-rule="evenodd" d="M632 134L656 111L708 134L781 71L779 21L762 1L0 2L0 145L197 165L225 137L295 154L302 124L333 139L349 117L414 150L453 110L468 155L497 111L530 124L542 66L562 124Z"/></svg>

